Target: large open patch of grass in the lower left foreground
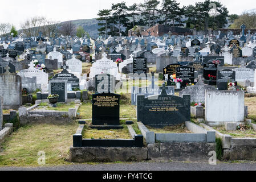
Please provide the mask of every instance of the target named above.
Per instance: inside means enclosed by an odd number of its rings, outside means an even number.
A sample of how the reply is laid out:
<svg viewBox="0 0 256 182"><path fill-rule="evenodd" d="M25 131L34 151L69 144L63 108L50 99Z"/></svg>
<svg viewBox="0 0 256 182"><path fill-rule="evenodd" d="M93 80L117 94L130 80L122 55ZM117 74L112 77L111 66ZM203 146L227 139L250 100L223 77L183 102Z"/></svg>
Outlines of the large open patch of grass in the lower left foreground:
<svg viewBox="0 0 256 182"><path fill-rule="evenodd" d="M67 162L68 151L77 128L77 122L20 127L1 144L0 166L39 166L39 151L46 154L46 166L71 164Z"/></svg>

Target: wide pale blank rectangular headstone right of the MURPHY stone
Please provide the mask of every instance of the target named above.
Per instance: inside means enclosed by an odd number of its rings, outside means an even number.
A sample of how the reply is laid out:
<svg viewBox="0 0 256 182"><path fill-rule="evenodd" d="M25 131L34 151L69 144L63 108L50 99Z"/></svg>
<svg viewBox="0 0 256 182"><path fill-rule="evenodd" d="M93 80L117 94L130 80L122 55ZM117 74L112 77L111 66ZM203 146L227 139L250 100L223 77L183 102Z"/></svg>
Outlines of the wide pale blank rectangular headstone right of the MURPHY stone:
<svg viewBox="0 0 256 182"><path fill-rule="evenodd" d="M243 122L245 116L245 92L206 90L205 121L210 125L225 122Z"/></svg>

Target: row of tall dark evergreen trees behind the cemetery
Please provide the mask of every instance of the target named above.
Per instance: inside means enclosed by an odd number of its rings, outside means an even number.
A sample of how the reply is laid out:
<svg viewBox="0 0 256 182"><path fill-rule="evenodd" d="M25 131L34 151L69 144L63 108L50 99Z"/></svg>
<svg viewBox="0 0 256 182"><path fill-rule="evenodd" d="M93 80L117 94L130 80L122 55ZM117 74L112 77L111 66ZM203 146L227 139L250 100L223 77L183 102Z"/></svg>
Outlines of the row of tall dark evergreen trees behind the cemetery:
<svg viewBox="0 0 256 182"><path fill-rule="evenodd" d="M210 3L215 3L218 15L209 15L209 11L213 8L209 7ZM235 23L240 17L236 14L228 14L227 8L218 1L206 0L181 7L176 0L146 0L144 3L134 3L132 6L127 6L125 2L112 4L111 9L99 10L97 20L100 35L119 36L127 35L128 30L132 28L152 27L157 23L197 30L209 28L217 30L225 28L229 22Z"/></svg>

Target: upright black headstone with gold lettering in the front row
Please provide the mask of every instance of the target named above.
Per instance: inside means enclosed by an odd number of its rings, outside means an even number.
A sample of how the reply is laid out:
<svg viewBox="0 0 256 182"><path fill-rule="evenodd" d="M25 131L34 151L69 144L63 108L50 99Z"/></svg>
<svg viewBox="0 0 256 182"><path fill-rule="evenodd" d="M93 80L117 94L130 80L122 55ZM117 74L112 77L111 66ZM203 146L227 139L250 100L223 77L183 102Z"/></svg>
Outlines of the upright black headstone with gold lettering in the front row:
<svg viewBox="0 0 256 182"><path fill-rule="evenodd" d="M119 102L119 94L92 94L92 125L120 125Z"/></svg>

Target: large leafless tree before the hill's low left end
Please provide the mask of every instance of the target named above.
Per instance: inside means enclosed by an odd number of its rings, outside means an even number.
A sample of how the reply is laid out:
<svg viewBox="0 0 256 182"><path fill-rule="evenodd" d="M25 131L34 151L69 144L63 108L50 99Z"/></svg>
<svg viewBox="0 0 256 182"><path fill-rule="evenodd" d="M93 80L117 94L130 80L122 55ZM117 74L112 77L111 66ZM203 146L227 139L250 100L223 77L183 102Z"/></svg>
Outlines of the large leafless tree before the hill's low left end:
<svg viewBox="0 0 256 182"><path fill-rule="evenodd" d="M43 16L35 16L33 18L27 19L24 23L21 24L23 33L27 36L38 36L41 31L41 26L43 26L46 18Z"/></svg>

